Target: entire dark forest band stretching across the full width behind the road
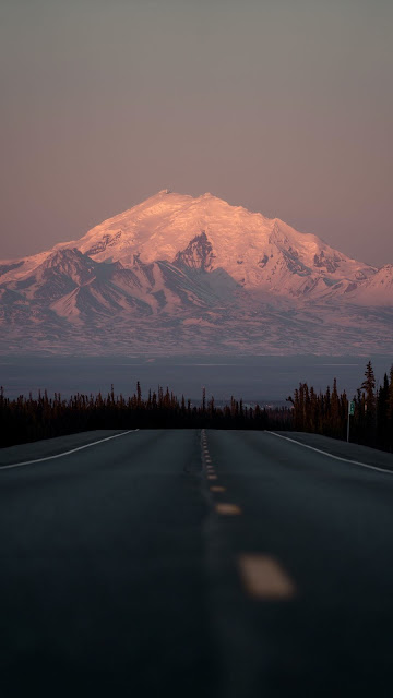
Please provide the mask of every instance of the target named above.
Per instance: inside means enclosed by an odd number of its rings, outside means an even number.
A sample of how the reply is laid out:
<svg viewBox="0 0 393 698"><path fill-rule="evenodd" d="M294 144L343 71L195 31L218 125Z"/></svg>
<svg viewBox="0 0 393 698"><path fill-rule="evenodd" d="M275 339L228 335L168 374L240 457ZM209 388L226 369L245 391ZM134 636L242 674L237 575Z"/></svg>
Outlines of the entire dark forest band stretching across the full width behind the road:
<svg viewBox="0 0 393 698"><path fill-rule="evenodd" d="M393 366L378 387L369 361L365 380L353 397L350 418L349 399L345 392L338 393L336 380L325 393L300 383L287 398L288 408L276 409L245 405L234 397L218 407L214 397L206 399L204 390L198 406L163 387L143 398L140 383L127 398L115 395L112 387L105 396L76 394L64 399L45 392L37 397L31 394L10 399L1 388L0 446L97 429L269 429L346 440L350 419L352 442L393 452Z"/></svg>

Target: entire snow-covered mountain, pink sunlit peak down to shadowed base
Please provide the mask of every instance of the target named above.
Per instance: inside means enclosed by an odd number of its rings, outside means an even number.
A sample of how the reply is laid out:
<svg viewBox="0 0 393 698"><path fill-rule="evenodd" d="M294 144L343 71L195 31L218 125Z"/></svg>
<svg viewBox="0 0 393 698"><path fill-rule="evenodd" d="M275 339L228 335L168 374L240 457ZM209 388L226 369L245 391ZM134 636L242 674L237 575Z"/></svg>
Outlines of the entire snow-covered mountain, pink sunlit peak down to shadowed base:
<svg viewBox="0 0 393 698"><path fill-rule="evenodd" d="M367 353L391 349L392 318L393 266L211 194L165 190L0 262L2 351Z"/></svg>

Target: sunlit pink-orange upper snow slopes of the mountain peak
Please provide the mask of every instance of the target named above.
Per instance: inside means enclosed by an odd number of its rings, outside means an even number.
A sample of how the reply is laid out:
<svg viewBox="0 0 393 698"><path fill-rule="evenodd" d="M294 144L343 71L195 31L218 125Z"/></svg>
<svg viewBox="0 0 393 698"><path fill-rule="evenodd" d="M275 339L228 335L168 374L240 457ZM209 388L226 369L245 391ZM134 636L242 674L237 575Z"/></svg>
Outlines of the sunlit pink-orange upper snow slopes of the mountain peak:
<svg viewBox="0 0 393 698"><path fill-rule="evenodd" d="M93 228L81 240L58 248L75 246L98 262L120 261L128 267L135 256L144 263L174 262L196 238L210 245L209 265L203 268L223 268L245 288L278 296L320 294L334 282L366 279L376 272L315 236L230 206L211 194L193 198L159 192ZM324 284L317 289L321 279Z"/></svg>

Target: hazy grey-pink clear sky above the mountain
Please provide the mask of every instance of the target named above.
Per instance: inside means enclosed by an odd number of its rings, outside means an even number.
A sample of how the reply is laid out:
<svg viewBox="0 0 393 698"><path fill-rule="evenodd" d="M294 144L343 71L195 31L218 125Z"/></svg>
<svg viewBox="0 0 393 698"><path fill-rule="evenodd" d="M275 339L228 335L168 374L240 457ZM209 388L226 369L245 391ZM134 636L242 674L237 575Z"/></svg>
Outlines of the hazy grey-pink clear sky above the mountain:
<svg viewBox="0 0 393 698"><path fill-rule="evenodd" d="M392 0L2 0L0 257L162 189L393 264Z"/></svg>

